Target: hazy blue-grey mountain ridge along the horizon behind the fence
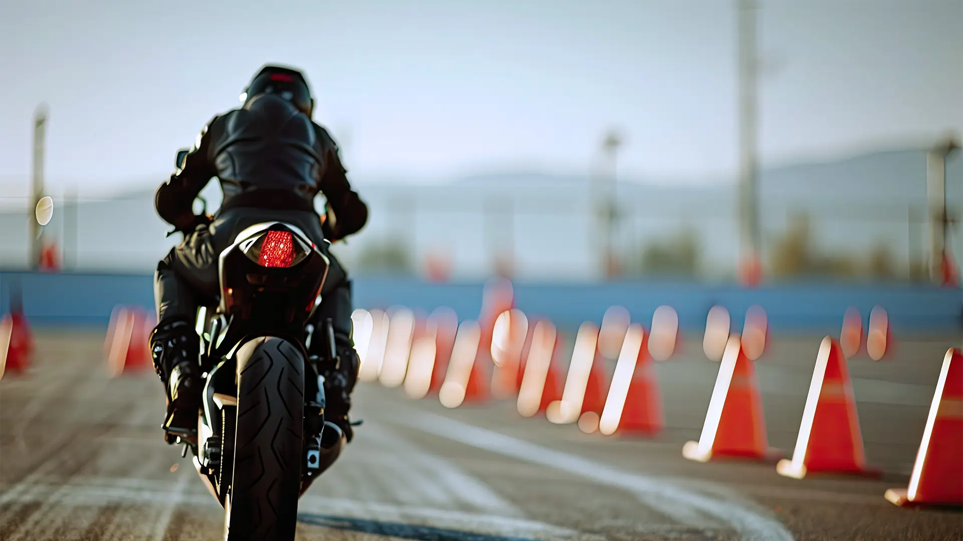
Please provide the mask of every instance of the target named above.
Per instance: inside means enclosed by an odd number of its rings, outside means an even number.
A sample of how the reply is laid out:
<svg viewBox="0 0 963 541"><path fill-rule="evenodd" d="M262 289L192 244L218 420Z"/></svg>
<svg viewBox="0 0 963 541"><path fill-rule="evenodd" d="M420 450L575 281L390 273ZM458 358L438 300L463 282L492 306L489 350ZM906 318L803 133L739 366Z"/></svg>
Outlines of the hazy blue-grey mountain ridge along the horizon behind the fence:
<svg viewBox="0 0 963 541"><path fill-rule="evenodd" d="M593 271L590 254L598 234L591 220L588 174L508 170L430 184L384 177L352 180L369 202L371 220L350 245L339 246L349 264L368 246L403 242L414 250L416 261L429 251L452 255L462 274L487 272L490 250L508 247L515 250L522 274L578 278ZM617 242L638 251L690 227L699 235L707 266L729 269L739 249L737 188L735 179L725 176L619 178L617 201L624 219ZM151 185L83 201L75 213L75 236L66 234L74 215L65 212L55 212L47 230L66 239L67 260L81 268L153 269L179 238L164 236L169 228L153 211L153 194ZM217 183L203 194L209 210L217 208ZM863 252L884 242L905 261L925 245L925 151L764 168L759 199L767 243L785 230L790 215L806 212L816 241L826 249ZM963 209L959 155L948 167L948 200L951 208ZM5 267L26 263L22 208L0 212L0 230L5 231L0 262ZM911 210L917 213L912 219ZM960 237L952 237L957 253L963 253Z"/></svg>

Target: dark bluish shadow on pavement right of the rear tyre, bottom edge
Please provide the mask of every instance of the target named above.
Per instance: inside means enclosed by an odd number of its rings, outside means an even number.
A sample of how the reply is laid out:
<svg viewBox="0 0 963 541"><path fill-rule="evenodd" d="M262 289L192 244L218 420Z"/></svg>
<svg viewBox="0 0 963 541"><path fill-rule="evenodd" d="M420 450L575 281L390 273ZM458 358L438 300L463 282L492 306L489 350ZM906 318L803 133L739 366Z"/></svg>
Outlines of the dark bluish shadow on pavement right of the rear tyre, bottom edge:
<svg viewBox="0 0 963 541"><path fill-rule="evenodd" d="M531 537L507 537L505 535L477 533L459 529L413 526L402 523L332 517L327 515L300 514L298 515L298 521L301 524L311 526L386 535L398 539L410 539L412 541L537 541Z"/></svg>

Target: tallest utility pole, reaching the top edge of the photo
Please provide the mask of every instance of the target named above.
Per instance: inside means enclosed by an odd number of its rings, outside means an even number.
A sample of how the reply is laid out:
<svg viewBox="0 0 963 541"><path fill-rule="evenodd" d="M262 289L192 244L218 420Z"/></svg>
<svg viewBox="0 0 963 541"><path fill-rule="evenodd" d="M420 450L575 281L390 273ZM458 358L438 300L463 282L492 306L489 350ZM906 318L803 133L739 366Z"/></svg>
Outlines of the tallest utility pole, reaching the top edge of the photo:
<svg viewBox="0 0 963 541"><path fill-rule="evenodd" d="M739 36L739 181L742 219L742 282L755 286L762 278L759 228L759 171L756 157L758 102L756 10L754 0L737 0Z"/></svg>

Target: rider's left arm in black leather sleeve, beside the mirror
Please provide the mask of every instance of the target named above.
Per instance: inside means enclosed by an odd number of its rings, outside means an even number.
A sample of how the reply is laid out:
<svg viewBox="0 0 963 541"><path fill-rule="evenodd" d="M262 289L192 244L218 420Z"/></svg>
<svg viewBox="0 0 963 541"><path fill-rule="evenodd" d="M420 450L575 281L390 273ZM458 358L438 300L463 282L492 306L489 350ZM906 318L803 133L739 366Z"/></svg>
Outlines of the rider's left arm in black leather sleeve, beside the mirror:
<svg viewBox="0 0 963 541"><path fill-rule="evenodd" d="M210 157L212 126L218 116L211 119L197 136L194 148L188 152L184 167L179 168L162 184L154 195L157 214L180 230L195 223L194 199L211 177L217 174Z"/></svg>

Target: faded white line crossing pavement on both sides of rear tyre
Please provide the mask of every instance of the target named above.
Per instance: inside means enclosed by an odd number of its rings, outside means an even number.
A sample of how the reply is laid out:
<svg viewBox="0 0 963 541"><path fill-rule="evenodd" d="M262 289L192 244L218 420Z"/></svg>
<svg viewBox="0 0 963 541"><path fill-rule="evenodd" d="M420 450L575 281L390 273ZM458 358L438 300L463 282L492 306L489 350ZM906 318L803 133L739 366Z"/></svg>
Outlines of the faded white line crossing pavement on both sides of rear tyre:
<svg viewBox="0 0 963 541"><path fill-rule="evenodd" d="M136 485L138 483L131 483L126 479L117 479L117 486L34 485L33 488L35 488L35 490L22 493L13 498L8 498L7 502L45 502L50 494L63 491L59 499L62 507L101 506L110 503L121 503L126 505L167 504L170 506L182 504L191 505L195 508L206 507L212 510L220 509L221 505L219 505L210 494L183 490L183 487L187 486L186 480L191 477L193 476L186 474L181 477L178 485L181 485L180 481L185 482L180 490L178 490L177 487L171 490L170 483L156 481L146 481L143 482L143 486L137 487ZM97 481L104 485L106 485L109 480L109 478L105 477L97 478ZM128 511L130 511L129 508ZM139 510L133 511L140 514ZM382 522L398 522L403 524L422 523L435 528L486 530L501 535L544 536L551 539L579 536L579 533L573 529L560 528L528 519L455 511L452 509L436 509L394 503L361 502L357 500L324 498L309 495L301 498L299 502L299 513L306 515L302 517L303 519L310 519L310 515L322 515ZM580 536L579 538L583 539L586 537Z"/></svg>

